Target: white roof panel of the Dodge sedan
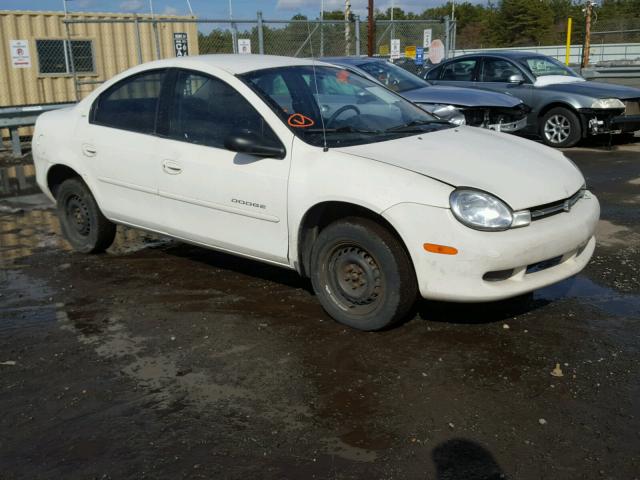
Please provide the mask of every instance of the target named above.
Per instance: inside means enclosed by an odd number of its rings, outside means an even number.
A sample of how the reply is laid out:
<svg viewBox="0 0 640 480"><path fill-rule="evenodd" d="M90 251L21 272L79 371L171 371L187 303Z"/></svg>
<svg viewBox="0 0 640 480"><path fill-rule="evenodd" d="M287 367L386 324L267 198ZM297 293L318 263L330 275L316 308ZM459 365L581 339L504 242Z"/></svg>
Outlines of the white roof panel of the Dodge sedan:
<svg viewBox="0 0 640 480"><path fill-rule="evenodd" d="M311 66L330 66L327 63L309 58L281 57L278 55L240 55L240 54L215 54L215 55L193 55L188 57L171 58L158 60L146 64L147 66L157 64L163 67L214 67L225 70L231 74L242 74L254 70L264 70L267 68Z"/></svg>

